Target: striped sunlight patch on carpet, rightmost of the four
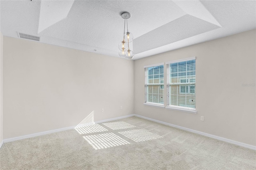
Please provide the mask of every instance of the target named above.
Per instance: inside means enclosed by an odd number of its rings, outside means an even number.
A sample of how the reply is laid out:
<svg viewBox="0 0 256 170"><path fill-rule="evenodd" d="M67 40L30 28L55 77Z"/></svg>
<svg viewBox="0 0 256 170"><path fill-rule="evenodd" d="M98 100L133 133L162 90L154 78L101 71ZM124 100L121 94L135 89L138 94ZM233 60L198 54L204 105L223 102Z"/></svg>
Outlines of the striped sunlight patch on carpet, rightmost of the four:
<svg viewBox="0 0 256 170"><path fill-rule="evenodd" d="M145 129L127 130L127 131L118 132L118 133L126 136L127 138L132 139L135 142L142 142L146 140L162 138L162 136L148 132Z"/></svg>

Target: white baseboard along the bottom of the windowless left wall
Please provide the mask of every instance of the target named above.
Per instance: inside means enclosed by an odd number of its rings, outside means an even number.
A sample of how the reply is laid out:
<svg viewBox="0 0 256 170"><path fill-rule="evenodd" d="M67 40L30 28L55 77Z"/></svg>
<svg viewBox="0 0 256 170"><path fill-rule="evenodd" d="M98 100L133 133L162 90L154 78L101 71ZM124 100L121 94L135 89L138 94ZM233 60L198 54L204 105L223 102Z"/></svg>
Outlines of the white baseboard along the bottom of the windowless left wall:
<svg viewBox="0 0 256 170"><path fill-rule="evenodd" d="M132 116L135 116L135 115L126 115L126 116L122 116L122 117L116 117L116 118L112 118L112 119L96 121L95 123L104 123L104 122L108 122L108 121L115 121L115 120L118 120L118 119L124 119L124 118L132 117ZM49 131L44 131L44 132L39 132L39 133L33 133L33 134L18 136L18 137L14 137L14 138L8 138L8 139L4 139L2 141L2 143L12 142L12 141L15 141L15 140L21 140L21 139L26 139L26 138L32 138L32 137L41 136L41 135L44 135L44 134L60 132L60 131L69 130L69 129L72 129L72 128L76 128L76 126L66 127L66 128L59 128L59 129L54 129L54 130L49 130Z"/></svg>

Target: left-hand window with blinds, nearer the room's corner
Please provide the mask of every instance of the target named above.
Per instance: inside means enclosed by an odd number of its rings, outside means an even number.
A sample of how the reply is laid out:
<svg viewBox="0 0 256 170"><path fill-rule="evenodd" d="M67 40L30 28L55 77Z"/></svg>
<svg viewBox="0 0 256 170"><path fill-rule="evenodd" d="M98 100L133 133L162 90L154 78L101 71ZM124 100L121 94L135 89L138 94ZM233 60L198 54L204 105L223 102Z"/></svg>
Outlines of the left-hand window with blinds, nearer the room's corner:
<svg viewBox="0 0 256 170"><path fill-rule="evenodd" d="M145 103L164 106L164 63L144 68Z"/></svg>

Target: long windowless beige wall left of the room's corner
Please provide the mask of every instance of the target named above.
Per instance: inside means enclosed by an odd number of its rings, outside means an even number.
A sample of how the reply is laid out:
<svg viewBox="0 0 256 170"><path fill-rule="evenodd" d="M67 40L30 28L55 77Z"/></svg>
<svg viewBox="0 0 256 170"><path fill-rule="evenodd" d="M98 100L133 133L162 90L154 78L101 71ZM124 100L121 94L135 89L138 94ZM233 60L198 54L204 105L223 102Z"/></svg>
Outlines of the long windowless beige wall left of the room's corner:
<svg viewBox="0 0 256 170"><path fill-rule="evenodd" d="M4 36L3 77L4 139L134 113L134 61Z"/></svg>

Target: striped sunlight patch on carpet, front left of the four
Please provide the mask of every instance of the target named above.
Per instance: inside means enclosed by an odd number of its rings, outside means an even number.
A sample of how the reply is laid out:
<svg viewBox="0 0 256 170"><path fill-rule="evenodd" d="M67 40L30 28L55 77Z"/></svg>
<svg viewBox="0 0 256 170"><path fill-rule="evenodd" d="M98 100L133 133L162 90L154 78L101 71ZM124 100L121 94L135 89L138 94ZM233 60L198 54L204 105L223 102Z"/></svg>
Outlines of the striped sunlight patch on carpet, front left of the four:
<svg viewBox="0 0 256 170"><path fill-rule="evenodd" d="M124 144L130 144L126 140L117 136L114 133L103 133L103 134L94 134L83 136L83 138L90 144L92 147L97 149L110 148L113 146L120 146Z"/></svg>

